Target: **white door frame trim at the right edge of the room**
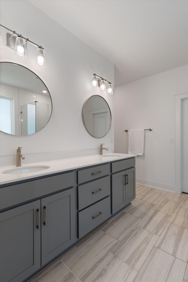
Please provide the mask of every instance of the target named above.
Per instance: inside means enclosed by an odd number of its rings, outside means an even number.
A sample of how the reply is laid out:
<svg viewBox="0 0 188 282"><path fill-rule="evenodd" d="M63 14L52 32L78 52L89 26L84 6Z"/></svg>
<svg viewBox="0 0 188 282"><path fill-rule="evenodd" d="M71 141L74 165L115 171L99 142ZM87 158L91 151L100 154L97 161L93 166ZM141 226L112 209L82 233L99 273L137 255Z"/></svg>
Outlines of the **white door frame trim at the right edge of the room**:
<svg viewBox="0 0 188 282"><path fill-rule="evenodd" d="M188 93L175 95L175 182L177 193L182 193L182 100L187 98Z"/></svg>

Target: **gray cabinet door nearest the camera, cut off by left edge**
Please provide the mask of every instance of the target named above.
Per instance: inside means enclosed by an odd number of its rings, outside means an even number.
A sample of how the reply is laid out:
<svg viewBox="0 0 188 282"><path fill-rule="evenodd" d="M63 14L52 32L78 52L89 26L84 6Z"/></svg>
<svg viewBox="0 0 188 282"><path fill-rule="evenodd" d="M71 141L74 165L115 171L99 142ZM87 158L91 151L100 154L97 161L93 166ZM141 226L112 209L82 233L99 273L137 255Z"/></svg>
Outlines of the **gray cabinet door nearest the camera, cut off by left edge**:
<svg viewBox="0 0 188 282"><path fill-rule="evenodd" d="M0 214L1 282L23 281L41 267L40 211L37 200Z"/></svg>

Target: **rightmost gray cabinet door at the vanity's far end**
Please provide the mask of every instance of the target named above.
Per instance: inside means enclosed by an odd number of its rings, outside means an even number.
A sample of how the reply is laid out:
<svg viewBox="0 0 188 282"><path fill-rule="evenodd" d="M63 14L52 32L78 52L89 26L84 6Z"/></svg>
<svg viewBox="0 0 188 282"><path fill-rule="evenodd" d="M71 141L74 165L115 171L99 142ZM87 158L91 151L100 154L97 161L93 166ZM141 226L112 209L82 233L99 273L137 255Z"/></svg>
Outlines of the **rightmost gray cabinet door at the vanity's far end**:
<svg viewBox="0 0 188 282"><path fill-rule="evenodd" d="M136 197L135 192L135 167L125 170L125 204L129 204Z"/></svg>

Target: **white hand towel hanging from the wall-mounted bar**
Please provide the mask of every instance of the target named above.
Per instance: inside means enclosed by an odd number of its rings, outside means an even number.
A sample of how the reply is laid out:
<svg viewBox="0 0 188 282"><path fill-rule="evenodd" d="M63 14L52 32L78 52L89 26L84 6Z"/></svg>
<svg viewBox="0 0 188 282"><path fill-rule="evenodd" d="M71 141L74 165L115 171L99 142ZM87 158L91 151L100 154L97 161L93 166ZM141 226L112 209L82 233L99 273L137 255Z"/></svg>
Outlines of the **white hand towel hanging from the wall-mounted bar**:
<svg viewBox="0 0 188 282"><path fill-rule="evenodd" d="M144 129L129 130L128 137L128 154L142 156L144 152Z"/></svg>

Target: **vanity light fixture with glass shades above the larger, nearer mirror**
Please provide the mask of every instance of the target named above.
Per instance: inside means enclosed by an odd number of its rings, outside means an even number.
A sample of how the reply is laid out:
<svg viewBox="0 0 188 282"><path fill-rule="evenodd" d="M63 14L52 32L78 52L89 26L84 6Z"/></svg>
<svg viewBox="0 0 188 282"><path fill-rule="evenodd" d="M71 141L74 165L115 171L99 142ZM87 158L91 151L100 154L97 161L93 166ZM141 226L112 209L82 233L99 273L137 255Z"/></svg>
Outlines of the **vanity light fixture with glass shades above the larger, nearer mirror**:
<svg viewBox="0 0 188 282"><path fill-rule="evenodd" d="M6 46L14 49L14 56L16 58L22 58L23 60L26 60L27 58L26 42L29 42L32 45L38 47L36 53L35 65L41 68L46 68L46 58L45 58L44 48L42 46L39 46L38 44L32 42L28 38L23 37L21 34L12 31L11 29L7 28L6 26L3 26L2 24L0 24L0 26L12 32L12 34L6 33Z"/></svg>

